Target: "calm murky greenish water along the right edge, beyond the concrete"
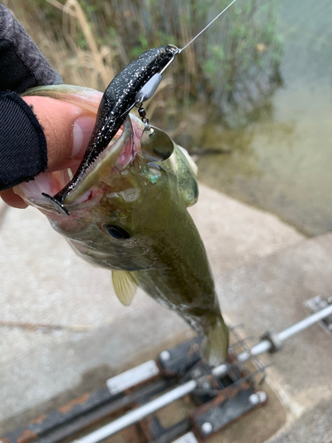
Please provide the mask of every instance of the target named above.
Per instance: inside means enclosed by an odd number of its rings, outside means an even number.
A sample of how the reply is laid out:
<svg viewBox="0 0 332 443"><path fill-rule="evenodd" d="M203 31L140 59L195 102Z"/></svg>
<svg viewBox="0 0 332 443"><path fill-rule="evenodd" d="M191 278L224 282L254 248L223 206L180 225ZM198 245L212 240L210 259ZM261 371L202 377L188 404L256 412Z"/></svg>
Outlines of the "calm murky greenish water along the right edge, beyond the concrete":
<svg viewBox="0 0 332 443"><path fill-rule="evenodd" d="M332 229L331 13L326 0L283 2L282 87L245 128L205 128L228 153L198 160L201 182L309 236Z"/></svg>

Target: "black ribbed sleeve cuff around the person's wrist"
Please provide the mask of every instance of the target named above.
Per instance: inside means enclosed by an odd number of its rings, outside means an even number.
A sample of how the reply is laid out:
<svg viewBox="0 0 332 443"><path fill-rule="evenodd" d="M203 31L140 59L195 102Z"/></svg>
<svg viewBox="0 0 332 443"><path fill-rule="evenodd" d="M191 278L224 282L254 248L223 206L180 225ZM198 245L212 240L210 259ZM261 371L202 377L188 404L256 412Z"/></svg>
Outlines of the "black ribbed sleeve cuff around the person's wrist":
<svg viewBox="0 0 332 443"><path fill-rule="evenodd" d="M27 182L47 167L46 138L29 105L0 91L0 190Z"/></svg>

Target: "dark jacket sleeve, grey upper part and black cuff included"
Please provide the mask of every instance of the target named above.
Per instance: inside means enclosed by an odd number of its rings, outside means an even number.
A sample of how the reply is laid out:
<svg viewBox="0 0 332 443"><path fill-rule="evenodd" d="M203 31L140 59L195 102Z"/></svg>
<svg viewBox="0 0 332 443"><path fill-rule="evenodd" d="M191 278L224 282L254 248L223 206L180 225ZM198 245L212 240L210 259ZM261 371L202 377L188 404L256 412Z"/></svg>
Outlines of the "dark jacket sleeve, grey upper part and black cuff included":
<svg viewBox="0 0 332 443"><path fill-rule="evenodd" d="M47 167L42 127L18 94L61 82L25 29L0 4L0 190L31 180Z"/></svg>

